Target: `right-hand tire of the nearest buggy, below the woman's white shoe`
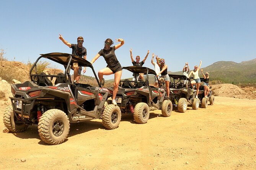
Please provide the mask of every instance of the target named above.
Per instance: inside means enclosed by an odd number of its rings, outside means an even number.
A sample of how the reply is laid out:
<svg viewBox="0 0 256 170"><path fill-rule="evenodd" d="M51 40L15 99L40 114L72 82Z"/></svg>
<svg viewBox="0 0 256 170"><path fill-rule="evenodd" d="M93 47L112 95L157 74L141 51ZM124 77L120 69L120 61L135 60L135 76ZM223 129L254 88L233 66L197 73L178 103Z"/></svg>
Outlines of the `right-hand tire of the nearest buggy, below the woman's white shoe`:
<svg viewBox="0 0 256 170"><path fill-rule="evenodd" d="M102 114L102 124L107 129L115 129L121 122L121 110L114 104L108 104Z"/></svg>

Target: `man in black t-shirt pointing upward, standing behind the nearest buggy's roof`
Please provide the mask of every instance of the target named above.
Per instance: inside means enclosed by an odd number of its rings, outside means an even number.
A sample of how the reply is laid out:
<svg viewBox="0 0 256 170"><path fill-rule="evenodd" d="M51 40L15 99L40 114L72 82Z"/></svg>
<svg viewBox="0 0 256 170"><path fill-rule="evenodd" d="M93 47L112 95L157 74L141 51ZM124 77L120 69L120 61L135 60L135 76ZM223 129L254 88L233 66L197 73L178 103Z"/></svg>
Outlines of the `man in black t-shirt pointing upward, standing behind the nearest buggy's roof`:
<svg viewBox="0 0 256 170"><path fill-rule="evenodd" d="M86 48L83 47L83 37L78 37L77 38L77 44L71 44L65 40L62 35L59 34L59 39L67 45L69 48L72 48L72 55L79 56L81 58L86 59L87 51ZM74 70L74 83L77 82L80 79L80 75L82 72L82 67L72 67ZM83 69L83 73L86 72L86 67Z"/></svg>

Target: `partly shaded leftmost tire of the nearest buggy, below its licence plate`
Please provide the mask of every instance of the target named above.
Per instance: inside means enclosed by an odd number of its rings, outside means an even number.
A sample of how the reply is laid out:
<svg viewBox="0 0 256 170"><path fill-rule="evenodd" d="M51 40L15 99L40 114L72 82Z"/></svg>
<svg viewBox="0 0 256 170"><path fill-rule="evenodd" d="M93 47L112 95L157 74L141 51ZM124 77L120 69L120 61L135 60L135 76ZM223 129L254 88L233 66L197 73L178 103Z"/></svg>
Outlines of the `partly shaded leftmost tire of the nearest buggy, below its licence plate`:
<svg viewBox="0 0 256 170"><path fill-rule="evenodd" d="M16 122L16 117L13 113L13 108L11 106L7 107L5 113L3 114L3 123L11 132L23 132L28 128L23 122Z"/></svg>

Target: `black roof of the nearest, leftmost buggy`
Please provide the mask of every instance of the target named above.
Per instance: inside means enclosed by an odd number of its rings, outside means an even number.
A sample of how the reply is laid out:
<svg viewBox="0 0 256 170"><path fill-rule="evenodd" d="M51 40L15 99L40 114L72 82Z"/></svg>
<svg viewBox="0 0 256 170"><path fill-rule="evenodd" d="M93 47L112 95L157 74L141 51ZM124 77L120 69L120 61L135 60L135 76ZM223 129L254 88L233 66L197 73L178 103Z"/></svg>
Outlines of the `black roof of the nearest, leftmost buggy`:
<svg viewBox="0 0 256 170"><path fill-rule="evenodd" d="M68 54L68 53L48 53L48 54L40 54L41 57L50 59L52 61L55 61L59 64L62 65L67 65L69 56L72 56L72 60L70 65L73 66L73 63L78 63L78 66L83 66L83 67L92 67L91 63L87 61L86 59L83 59L82 57Z"/></svg>

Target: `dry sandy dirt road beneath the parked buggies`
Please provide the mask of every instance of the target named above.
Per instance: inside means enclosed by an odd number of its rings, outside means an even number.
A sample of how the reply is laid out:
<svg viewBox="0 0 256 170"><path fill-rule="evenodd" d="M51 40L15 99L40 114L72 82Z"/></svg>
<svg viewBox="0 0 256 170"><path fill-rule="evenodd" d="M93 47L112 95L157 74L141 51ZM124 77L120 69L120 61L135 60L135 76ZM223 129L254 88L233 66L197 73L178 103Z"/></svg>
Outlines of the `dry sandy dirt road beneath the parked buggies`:
<svg viewBox="0 0 256 170"><path fill-rule="evenodd" d="M101 120L72 124L68 139L54 146L35 126L0 132L0 169L256 169L256 100L217 96L207 109L189 108L170 117L151 112L146 124L122 115L114 130Z"/></svg>

